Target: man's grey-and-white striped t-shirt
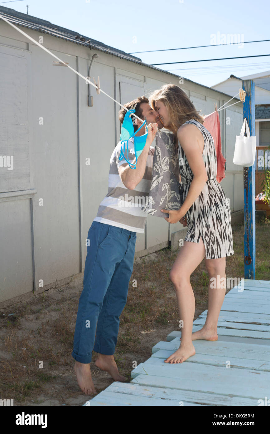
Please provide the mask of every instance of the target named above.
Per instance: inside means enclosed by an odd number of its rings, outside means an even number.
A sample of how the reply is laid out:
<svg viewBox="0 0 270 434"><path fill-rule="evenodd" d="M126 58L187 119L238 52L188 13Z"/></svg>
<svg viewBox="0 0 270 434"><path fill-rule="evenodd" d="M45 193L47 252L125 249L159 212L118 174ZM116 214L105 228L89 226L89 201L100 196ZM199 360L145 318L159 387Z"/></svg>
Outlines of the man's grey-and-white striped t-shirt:
<svg viewBox="0 0 270 434"><path fill-rule="evenodd" d="M111 155L108 192L98 207L98 213L94 221L111 224L112 226L121 227L132 232L143 233L148 214L141 208L145 205L147 206L149 201L155 148L150 146L143 179L137 184L134 190L129 190L121 181L118 172L118 168L122 164L128 165L124 158L119 160L121 152L120 145L121 142L119 141ZM124 151L123 145L122 149ZM134 160L133 137L128 141L128 151L126 144L124 155L128 158L130 163ZM133 170L136 170L136 168Z"/></svg>

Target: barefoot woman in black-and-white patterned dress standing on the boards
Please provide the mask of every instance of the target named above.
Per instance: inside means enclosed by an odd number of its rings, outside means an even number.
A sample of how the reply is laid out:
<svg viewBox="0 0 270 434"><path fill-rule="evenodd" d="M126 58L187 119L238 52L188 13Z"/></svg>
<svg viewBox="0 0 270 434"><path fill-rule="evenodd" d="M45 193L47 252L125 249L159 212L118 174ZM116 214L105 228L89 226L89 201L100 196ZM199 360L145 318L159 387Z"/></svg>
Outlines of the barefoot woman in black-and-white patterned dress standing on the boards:
<svg viewBox="0 0 270 434"><path fill-rule="evenodd" d="M188 227L183 247L170 272L182 323L181 344L165 360L166 363L182 363L195 354L192 340L218 339L218 316L226 293L226 285L222 287L219 283L226 278L226 256L234 253L231 210L216 180L217 158L213 138L191 100L179 86L172 84L154 91L150 99L164 127L175 135L185 199L179 204L179 210L162 210L169 214L166 218L169 223L180 221L183 224L186 215ZM208 312L205 325L192 334L195 298L190 276L204 257L210 278Z"/></svg>

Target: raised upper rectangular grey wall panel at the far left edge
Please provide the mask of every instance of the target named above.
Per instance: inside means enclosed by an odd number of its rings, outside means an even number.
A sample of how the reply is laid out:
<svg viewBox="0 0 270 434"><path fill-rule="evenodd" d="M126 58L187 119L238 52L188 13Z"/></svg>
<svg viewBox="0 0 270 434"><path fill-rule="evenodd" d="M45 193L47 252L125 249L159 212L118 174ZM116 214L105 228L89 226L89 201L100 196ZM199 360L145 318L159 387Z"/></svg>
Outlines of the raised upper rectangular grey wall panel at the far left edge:
<svg viewBox="0 0 270 434"><path fill-rule="evenodd" d="M30 186L28 59L23 50L0 46L0 192Z"/></svg>

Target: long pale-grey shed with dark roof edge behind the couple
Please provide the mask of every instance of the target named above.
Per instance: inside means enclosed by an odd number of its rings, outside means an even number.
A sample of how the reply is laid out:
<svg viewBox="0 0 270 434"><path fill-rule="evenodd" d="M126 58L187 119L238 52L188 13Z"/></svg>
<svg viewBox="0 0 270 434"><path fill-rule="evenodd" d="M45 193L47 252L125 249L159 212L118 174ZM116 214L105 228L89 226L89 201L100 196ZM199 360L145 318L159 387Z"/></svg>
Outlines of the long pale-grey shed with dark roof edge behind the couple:
<svg viewBox="0 0 270 434"><path fill-rule="evenodd" d="M0 13L85 77L99 76L101 89L121 104L166 83L179 85L205 115L231 99L49 21L2 6ZM0 164L0 302L64 285L84 272L88 229L107 194L119 141L119 109L0 20L0 154L14 158L13 170ZM232 163L242 103L230 109L230 125L228 110L220 112L227 159L221 186L232 221L243 221L243 168ZM148 216L136 257L169 246L182 231L180 223Z"/></svg>

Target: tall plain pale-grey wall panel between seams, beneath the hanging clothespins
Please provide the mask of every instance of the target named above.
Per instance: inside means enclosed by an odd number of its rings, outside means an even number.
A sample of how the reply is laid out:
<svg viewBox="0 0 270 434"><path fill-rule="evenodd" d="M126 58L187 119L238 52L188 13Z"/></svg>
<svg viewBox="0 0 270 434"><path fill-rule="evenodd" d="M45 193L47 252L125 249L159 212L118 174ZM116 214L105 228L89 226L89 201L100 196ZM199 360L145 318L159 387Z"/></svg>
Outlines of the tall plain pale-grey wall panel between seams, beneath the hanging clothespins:
<svg viewBox="0 0 270 434"><path fill-rule="evenodd" d="M36 279L47 285L80 271L77 78L32 49ZM74 56L52 52L76 68Z"/></svg>

